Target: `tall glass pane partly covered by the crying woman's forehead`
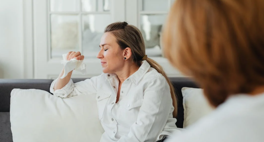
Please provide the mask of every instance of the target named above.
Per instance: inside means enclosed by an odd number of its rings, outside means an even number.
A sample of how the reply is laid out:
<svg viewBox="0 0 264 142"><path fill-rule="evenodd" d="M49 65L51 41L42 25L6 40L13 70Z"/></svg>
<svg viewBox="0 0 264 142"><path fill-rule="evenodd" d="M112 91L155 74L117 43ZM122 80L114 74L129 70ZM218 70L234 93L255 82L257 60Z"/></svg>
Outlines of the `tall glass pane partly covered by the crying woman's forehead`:
<svg viewBox="0 0 264 142"><path fill-rule="evenodd" d="M100 51L99 44L104 28L111 24L110 14L83 15L83 54L86 57L96 57Z"/></svg>

